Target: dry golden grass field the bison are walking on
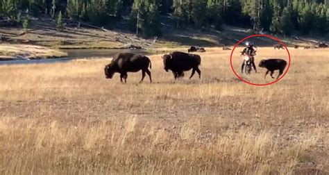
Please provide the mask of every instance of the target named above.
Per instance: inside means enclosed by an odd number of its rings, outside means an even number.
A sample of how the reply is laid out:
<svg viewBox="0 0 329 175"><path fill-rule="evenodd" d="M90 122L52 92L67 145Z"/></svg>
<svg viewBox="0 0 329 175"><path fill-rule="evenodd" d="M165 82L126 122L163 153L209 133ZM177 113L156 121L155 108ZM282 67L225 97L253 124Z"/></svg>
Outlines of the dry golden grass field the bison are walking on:
<svg viewBox="0 0 329 175"><path fill-rule="evenodd" d="M1 65L0 174L329 174L329 49L290 53L264 87L218 48L200 53L201 81L174 81L160 55L152 84L106 79L110 58ZM287 53L255 62L273 57ZM272 81L258 70L242 76Z"/></svg>

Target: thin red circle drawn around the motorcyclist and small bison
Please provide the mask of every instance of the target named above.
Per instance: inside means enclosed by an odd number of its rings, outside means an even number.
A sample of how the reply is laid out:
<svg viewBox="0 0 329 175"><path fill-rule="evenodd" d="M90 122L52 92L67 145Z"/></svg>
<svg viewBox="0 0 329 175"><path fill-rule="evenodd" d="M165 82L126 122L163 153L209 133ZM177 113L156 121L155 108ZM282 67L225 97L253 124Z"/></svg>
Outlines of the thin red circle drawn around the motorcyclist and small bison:
<svg viewBox="0 0 329 175"><path fill-rule="evenodd" d="M278 78L276 81L273 81L271 83L266 83L266 84L255 84L255 83L251 83L251 82L248 82L248 81L245 81L243 78L241 78L239 75L237 75L237 72L235 72L234 68L233 68L233 65L232 65L232 56L233 56L233 52L234 52L234 49L235 47L237 47L241 42L243 42L244 40L248 39L248 38L253 38L253 37L257 37L257 36L260 36L260 37L267 37L267 38L271 38L273 40L276 40L278 42L280 42L280 44L282 44L285 49L287 50L287 53L288 53L288 56L289 56L289 64L288 64L288 67L287 67L287 70L285 71L285 73L280 77ZM288 70L289 70L289 67L290 67L290 53L289 53L289 50L287 49L287 47L285 46L285 44L283 44L283 42L281 42L278 38L275 38L271 35L250 35L242 40L239 40L239 42L237 42L237 44L235 44L235 47L232 49L232 52L230 53L230 68L233 70L235 76L237 76L237 78L239 78L240 80L244 81L244 83L248 83L249 85L257 85L257 86L263 86L263 85L271 85L273 83L276 83L278 81L280 81L281 78L283 78L283 76L285 76L285 74L287 74Z"/></svg>

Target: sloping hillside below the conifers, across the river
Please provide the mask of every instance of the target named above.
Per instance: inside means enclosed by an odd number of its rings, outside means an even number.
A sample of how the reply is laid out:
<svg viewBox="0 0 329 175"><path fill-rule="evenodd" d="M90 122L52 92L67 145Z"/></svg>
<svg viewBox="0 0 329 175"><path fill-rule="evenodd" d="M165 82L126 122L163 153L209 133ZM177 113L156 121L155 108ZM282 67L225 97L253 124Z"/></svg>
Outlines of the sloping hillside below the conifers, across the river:
<svg viewBox="0 0 329 175"><path fill-rule="evenodd" d="M135 33L129 32L127 22L122 19L111 28L93 27L90 25L67 22L63 31L56 31L55 22L47 16L32 18L28 33L24 33L22 27L0 27L2 42L19 44L37 44L59 49L87 49L87 48L124 48L131 44L139 47L187 47L196 45L200 47L218 47L227 44L233 46L237 40L241 40L253 34L246 28L223 26L223 31L215 31L212 28L175 28L169 16L162 18L162 36L156 42L153 38L137 38ZM279 37L287 45L307 45L314 47L319 42L328 42L321 38ZM273 40L266 38L253 38L258 46L271 46Z"/></svg>

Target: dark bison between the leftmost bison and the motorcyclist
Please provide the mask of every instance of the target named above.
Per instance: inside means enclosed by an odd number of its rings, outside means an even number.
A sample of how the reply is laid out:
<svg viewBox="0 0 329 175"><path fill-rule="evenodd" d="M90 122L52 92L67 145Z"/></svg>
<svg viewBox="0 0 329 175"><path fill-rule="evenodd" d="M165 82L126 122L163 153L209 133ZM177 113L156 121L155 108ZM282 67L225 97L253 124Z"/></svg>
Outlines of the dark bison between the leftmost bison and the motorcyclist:
<svg viewBox="0 0 329 175"><path fill-rule="evenodd" d="M184 76L184 72L190 69L192 69L192 74L189 78L192 78L195 72L198 72L199 78L201 78L201 71L199 69L201 57L196 54L174 51L173 53L162 56L162 60L166 72L170 69L175 79Z"/></svg>

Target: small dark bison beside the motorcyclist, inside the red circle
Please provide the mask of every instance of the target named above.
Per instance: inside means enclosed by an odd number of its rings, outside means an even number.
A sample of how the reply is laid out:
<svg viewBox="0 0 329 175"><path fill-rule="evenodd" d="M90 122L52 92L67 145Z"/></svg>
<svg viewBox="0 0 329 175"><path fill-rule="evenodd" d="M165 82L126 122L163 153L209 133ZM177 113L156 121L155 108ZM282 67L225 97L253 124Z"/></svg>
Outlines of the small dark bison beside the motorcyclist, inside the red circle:
<svg viewBox="0 0 329 175"><path fill-rule="evenodd" d="M267 69L267 72L265 73L264 78L266 78L267 74L269 74L269 72L271 72L271 77L273 77L273 73L275 70L279 70L279 74L278 77L276 77L276 79L278 79L280 77L280 75L282 75L283 70L285 69L285 67L287 66L287 61L282 60L282 59L268 59L268 60L260 60L260 64L258 65L259 67L264 67Z"/></svg>

